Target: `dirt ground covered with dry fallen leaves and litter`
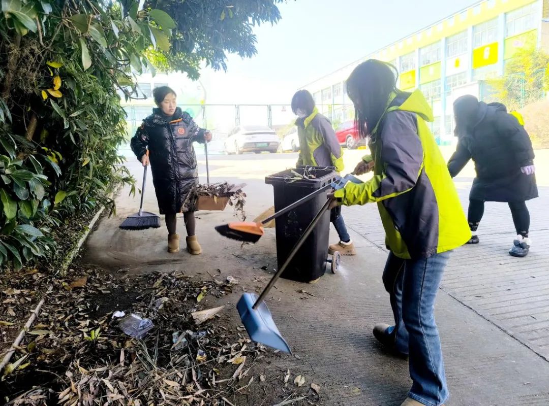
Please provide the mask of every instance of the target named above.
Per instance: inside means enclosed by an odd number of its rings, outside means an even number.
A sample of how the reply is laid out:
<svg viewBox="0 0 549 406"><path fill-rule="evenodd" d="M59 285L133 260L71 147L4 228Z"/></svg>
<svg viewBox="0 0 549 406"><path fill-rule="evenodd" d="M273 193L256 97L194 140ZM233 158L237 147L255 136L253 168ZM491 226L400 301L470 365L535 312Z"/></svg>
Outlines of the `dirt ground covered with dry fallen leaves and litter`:
<svg viewBox="0 0 549 406"><path fill-rule="evenodd" d="M46 299L0 373L0 404L320 404L315 382L275 366L289 356L251 342L239 326L223 326L223 310L236 309L211 308L208 298L232 293L236 279L130 277L89 266L73 266L68 275L34 269L0 282L2 358ZM120 328L132 315L152 323L142 339Z"/></svg>

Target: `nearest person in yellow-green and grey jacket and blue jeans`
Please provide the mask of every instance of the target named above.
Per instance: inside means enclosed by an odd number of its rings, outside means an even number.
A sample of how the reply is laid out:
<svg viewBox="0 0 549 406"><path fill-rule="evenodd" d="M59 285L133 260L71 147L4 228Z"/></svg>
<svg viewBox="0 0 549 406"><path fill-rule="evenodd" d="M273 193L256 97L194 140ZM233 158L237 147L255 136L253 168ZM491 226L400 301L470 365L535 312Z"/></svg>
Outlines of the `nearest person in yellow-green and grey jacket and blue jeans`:
<svg viewBox="0 0 549 406"><path fill-rule="evenodd" d="M419 90L396 88L396 68L367 60L347 80L356 125L371 156L355 171L373 178L348 183L332 206L377 203L390 250L383 272L395 324L374 336L410 363L412 388L402 406L440 406L449 397L435 296L450 251L470 238L469 226L446 162L427 122L431 108Z"/></svg>

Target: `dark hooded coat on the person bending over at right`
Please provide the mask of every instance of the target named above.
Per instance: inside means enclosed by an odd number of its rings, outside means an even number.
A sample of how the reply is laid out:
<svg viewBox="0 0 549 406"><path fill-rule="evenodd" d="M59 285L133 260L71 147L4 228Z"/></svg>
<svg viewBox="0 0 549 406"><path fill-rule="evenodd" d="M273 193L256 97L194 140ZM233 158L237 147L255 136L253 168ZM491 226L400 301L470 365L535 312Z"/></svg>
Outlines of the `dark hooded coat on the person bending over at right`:
<svg viewBox="0 0 549 406"><path fill-rule="evenodd" d="M520 168L532 165L534 151L526 130L501 103L480 102L468 134L460 136L448 162L452 178L473 159L477 177L470 199L485 202L524 202L537 197L535 175Z"/></svg>

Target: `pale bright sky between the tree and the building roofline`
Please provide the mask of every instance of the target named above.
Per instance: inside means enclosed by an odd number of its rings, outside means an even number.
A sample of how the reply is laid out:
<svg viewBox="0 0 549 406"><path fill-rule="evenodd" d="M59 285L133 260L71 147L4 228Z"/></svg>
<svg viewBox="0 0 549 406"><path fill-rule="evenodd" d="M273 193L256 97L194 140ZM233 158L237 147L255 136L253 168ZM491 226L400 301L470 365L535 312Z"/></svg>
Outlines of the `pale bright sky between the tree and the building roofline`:
<svg viewBox="0 0 549 406"><path fill-rule="evenodd" d="M287 0L278 24L256 27L257 55L203 71L207 103L287 104L295 90L474 0Z"/></svg>

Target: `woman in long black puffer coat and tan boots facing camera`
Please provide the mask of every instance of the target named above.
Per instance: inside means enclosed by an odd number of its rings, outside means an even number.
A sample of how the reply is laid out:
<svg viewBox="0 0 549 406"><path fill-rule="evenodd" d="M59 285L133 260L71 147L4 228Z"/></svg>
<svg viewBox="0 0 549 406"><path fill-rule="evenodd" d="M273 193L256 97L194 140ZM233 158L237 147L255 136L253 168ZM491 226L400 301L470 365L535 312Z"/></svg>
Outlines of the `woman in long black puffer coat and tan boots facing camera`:
<svg viewBox="0 0 549 406"><path fill-rule="evenodd" d="M143 120L131 140L131 147L143 166L150 163L158 208L160 214L166 216L168 251L177 253L177 213L183 211L189 191L198 184L193 142L209 142L211 133L199 128L188 113L177 107L176 94L171 88L155 88L153 96L158 108ZM187 228L187 251L198 255L202 249L195 236L194 212L183 213L183 219Z"/></svg>

